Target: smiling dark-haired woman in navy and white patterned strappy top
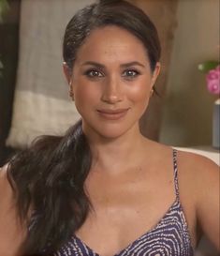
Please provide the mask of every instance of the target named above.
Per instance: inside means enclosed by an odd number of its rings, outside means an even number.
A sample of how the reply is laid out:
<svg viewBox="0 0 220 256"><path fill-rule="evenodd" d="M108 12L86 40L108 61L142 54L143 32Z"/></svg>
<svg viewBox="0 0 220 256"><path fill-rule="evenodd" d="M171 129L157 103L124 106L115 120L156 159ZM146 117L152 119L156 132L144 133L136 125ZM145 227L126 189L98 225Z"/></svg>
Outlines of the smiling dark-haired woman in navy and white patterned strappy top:
<svg viewBox="0 0 220 256"><path fill-rule="evenodd" d="M12 158L0 179L0 255L193 255L219 247L218 167L144 138L154 24L101 1L67 24L64 72L81 121Z"/></svg>

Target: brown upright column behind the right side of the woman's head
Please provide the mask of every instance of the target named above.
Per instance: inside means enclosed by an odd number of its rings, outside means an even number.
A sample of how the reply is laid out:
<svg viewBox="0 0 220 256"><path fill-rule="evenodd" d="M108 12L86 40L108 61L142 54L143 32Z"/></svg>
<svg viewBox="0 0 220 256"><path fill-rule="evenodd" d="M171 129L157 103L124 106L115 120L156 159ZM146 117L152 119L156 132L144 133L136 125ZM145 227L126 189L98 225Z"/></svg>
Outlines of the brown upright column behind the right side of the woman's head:
<svg viewBox="0 0 220 256"><path fill-rule="evenodd" d="M155 84L160 97L154 95L149 107L140 121L144 136L158 141L161 126L163 99L166 94L169 75L169 61L172 52L174 32L177 26L176 11L178 0L131 0L131 3L142 8L155 24L162 46L161 74Z"/></svg>

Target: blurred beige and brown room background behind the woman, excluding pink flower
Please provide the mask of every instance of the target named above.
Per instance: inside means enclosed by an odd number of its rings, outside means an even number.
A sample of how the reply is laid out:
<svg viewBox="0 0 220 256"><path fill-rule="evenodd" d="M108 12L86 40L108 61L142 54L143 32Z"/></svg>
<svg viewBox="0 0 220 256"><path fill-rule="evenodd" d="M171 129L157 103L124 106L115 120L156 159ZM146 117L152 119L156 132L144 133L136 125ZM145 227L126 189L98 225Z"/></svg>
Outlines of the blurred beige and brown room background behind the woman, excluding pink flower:
<svg viewBox="0 0 220 256"><path fill-rule="evenodd" d="M78 118L62 73L66 23L93 0L0 0L0 166ZM219 0L134 0L155 23L162 72L140 128L173 146L212 148L213 103L198 64L219 61ZM198 255L217 255L208 242Z"/></svg>

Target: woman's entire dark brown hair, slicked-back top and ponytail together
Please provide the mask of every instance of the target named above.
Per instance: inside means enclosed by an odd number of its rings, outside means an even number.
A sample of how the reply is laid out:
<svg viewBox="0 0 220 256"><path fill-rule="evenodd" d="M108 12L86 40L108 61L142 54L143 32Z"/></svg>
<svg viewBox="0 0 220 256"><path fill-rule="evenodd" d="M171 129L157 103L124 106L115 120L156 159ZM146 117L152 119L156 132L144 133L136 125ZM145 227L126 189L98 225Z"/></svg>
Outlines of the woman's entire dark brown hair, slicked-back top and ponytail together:
<svg viewBox="0 0 220 256"><path fill-rule="evenodd" d="M117 25L143 43L152 70L160 58L154 24L126 1L99 1L78 11L66 26L63 56L69 72L84 41L97 28ZM28 230L23 255L51 255L80 229L91 209L84 188L92 155L81 120L64 136L38 137L10 159L7 178L18 215Z"/></svg>

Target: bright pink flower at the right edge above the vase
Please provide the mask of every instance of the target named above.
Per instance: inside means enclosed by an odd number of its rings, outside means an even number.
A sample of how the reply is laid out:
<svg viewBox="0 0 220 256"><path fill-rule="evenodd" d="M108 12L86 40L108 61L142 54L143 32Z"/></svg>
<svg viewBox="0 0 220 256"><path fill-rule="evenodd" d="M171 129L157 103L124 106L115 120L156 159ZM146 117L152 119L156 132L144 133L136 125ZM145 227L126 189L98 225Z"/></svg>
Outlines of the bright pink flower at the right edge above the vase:
<svg viewBox="0 0 220 256"><path fill-rule="evenodd" d="M209 92L220 96L220 66L209 71L206 81Z"/></svg>

